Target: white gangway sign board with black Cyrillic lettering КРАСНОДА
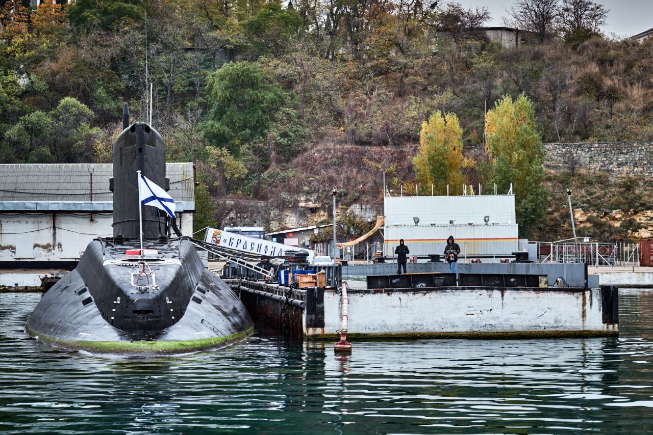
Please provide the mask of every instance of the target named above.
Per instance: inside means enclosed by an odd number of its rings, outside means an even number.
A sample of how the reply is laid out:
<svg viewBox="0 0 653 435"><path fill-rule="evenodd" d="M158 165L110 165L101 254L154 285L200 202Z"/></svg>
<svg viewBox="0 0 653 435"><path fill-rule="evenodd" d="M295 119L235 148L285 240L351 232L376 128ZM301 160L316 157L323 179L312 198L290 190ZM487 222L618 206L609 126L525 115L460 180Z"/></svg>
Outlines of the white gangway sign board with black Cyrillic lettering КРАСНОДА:
<svg viewBox="0 0 653 435"><path fill-rule="evenodd" d="M308 253L309 263L313 261L313 257L315 256L314 250L283 245L282 243L275 243L262 239L255 239L254 237L216 230L215 228L208 228L206 230L204 241L229 249L270 257L287 256L292 255L293 252L303 251Z"/></svg>

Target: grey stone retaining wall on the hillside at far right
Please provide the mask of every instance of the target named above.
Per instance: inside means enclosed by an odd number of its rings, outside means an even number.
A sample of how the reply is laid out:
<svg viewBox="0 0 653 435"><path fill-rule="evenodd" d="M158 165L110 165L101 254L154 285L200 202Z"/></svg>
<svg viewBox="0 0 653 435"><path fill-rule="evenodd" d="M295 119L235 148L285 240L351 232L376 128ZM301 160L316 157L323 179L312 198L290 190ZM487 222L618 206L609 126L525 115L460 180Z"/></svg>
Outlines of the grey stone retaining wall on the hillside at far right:
<svg viewBox="0 0 653 435"><path fill-rule="evenodd" d="M615 175L653 179L653 142L545 143L551 170L604 170Z"/></svg>

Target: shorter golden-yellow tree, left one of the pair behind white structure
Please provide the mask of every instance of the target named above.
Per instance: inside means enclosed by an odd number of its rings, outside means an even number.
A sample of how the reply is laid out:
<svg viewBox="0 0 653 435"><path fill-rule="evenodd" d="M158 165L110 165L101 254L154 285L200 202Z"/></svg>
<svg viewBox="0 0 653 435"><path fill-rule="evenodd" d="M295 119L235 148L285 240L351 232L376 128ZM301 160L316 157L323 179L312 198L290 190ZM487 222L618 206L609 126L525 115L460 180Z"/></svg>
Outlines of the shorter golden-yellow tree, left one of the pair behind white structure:
<svg viewBox="0 0 653 435"><path fill-rule="evenodd" d="M455 113L434 113L428 123L422 123L419 152L413 159L417 183L423 190L434 185L439 195L460 192L464 177L462 164L462 128ZM430 192L430 190L429 190Z"/></svg>

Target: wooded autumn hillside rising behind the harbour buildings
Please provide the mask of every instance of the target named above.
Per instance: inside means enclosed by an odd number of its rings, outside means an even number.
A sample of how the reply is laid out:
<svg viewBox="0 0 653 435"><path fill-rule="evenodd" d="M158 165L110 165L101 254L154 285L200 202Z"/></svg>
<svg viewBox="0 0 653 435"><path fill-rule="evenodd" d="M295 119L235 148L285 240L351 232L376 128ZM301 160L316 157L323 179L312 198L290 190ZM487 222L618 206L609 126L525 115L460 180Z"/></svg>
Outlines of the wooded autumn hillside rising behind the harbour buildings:
<svg viewBox="0 0 653 435"><path fill-rule="evenodd" d="M2 5L0 162L107 162L127 101L132 119L151 115L168 161L197 160L198 229L321 222L334 186L341 207L374 215L384 171L390 186L414 186L423 121L456 113L465 157L482 160L485 112L505 95L528 97L545 143L653 140L653 40L605 37L605 10L594 22L522 22L511 45L482 31L480 3ZM557 189L564 174L550 177ZM605 188L628 190L619 183ZM643 198L583 211L590 224L603 210L620 222L592 224L606 237L637 237L629 211L653 209ZM564 232L562 216L544 222L542 237Z"/></svg>

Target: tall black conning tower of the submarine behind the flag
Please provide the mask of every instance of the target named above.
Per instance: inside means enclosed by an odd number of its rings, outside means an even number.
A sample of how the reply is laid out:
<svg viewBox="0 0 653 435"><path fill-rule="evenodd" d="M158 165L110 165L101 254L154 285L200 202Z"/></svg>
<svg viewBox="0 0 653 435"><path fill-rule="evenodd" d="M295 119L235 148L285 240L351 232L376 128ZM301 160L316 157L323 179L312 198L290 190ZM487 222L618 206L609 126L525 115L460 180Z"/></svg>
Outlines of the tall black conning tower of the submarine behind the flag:
<svg viewBox="0 0 653 435"><path fill-rule="evenodd" d="M146 123L129 125L127 103L123 108L123 131L114 142L114 177L109 190L114 193L114 237L139 237L138 178L136 171L155 185L170 189L165 176L165 144L157 130ZM164 213L165 214L165 213ZM143 237L156 238L164 232L163 217L155 207L142 207Z"/></svg>

